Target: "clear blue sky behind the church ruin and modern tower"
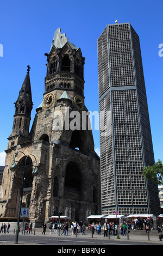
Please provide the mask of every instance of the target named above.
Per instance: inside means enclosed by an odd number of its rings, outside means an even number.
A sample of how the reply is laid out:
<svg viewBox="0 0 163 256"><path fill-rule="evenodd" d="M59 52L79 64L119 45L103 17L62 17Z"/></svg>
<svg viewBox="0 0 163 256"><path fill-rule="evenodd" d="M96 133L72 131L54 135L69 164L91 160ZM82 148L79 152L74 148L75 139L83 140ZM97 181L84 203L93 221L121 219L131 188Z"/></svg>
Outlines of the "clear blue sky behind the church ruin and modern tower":
<svg viewBox="0 0 163 256"><path fill-rule="evenodd" d="M163 0L1 0L0 3L0 165L12 131L14 102L30 65L30 82L35 109L44 93L46 57L55 30L77 47L85 57L85 105L89 111L98 111L97 39L107 24L130 22L140 37L143 70L155 161L163 160L162 138L162 64L159 45L163 44ZM163 51L162 51L163 53ZM2 53L0 52L0 55ZM93 131L95 149L99 149L99 131Z"/></svg>

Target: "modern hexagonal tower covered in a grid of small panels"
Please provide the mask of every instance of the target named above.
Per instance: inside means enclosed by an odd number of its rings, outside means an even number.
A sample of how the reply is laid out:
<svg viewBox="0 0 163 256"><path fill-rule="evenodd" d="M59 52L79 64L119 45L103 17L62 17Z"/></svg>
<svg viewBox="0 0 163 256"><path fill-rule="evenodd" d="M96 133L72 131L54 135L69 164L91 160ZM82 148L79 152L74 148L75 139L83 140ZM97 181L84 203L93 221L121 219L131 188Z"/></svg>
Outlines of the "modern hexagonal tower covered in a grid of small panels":
<svg viewBox="0 0 163 256"><path fill-rule="evenodd" d="M139 36L130 23L107 25L98 39L102 214L160 214Z"/></svg>

